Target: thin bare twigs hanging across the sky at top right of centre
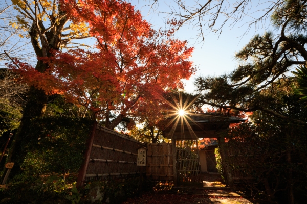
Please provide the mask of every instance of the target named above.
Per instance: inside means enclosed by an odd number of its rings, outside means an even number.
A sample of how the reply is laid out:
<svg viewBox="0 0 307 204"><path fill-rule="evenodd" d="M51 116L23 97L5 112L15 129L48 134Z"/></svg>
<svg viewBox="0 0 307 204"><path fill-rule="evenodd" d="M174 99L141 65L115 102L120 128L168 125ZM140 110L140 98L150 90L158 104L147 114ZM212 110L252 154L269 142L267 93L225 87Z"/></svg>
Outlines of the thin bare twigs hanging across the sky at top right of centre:
<svg viewBox="0 0 307 204"><path fill-rule="evenodd" d="M256 30L266 24L266 20L270 17L272 12L279 8L286 0L258 0L253 2L250 0L224 1L224 0L173 0L167 5L169 12L165 13L169 16L177 17L180 20L178 29L184 24L190 24L194 28L198 28L196 38L205 39L206 29L213 31L220 35L225 25L230 29L236 25L247 26L246 34L254 25ZM158 0L149 1L148 6L155 9ZM173 6L175 5L175 6ZM249 18L249 20L244 20ZM242 34L242 35L244 35Z"/></svg>

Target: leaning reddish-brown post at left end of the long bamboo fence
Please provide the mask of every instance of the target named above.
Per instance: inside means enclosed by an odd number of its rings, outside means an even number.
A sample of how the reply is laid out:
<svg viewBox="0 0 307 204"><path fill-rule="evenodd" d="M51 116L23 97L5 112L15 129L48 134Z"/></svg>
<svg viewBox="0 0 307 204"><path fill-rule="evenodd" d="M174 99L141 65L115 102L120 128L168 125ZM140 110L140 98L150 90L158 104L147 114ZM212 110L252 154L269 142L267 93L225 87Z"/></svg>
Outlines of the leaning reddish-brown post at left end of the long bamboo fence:
<svg viewBox="0 0 307 204"><path fill-rule="evenodd" d="M93 127L92 127L92 131L85 143L86 150L83 155L84 161L80 167L79 174L78 174L77 185L76 185L77 188L80 188L81 186L84 185L87 167L89 167L89 161L91 157L91 151L92 151L92 146L94 142L96 127L97 127L97 121L95 120Z"/></svg>

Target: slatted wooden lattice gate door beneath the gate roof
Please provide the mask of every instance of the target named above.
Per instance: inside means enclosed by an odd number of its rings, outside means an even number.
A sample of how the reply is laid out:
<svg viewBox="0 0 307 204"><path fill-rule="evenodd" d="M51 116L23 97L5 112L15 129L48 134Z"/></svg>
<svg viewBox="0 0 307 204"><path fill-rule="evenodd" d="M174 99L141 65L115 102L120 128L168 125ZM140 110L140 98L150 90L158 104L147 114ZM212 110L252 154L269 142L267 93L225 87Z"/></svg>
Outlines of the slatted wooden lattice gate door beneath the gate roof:
<svg viewBox="0 0 307 204"><path fill-rule="evenodd" d="M197 140L178 140L176 150L178 184L202 184Z"/></svg>

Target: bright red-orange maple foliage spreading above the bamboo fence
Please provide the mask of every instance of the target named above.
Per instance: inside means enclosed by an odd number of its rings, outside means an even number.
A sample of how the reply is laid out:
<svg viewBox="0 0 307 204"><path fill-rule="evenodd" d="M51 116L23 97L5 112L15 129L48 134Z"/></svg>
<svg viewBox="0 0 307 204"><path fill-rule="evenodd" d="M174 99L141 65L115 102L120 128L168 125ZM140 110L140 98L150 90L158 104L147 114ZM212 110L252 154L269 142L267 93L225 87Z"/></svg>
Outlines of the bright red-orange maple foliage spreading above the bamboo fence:
<svg viewBox="0 0 307 204"><path fill-rule="evenodd" d="M43 73L19 61L11 68L21 81L46 94L64 94L68 101L106 119L107 126L114 128L127 114L157 109L163 103L162 93L182 87L180 80L195 72L189 61L193 48L174 39L172 28L153 30L131 4L112 0L60 4L75 24L88 27L95 48L53 50L53 57L42 58L49 65ZM175 24L171 21L170 27ZM111 122L112 114L117 116Z"/></svg>

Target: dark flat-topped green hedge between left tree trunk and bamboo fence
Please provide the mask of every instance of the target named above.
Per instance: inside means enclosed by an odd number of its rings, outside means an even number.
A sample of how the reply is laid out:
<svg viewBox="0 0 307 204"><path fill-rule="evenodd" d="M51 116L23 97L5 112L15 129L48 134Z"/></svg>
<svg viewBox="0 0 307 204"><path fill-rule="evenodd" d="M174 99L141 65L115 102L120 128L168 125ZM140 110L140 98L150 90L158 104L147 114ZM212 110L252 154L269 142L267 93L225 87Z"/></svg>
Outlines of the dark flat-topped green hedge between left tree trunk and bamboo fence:
<svg viewBox="0 0 307 204"><path fill-rule="evenodd" d="M86 118L43 117L34 119L31 142L21 168L26 174L77 172L82 163L91 121Z"/></svg>

